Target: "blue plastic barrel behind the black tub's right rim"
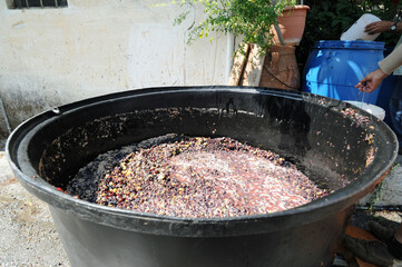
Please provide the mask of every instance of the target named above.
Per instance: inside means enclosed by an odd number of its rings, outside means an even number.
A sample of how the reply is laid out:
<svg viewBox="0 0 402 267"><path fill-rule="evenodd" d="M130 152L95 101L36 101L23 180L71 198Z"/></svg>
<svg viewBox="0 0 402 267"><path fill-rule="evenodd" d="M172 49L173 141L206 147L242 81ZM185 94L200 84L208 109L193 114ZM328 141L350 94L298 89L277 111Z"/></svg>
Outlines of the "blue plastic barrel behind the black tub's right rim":
<svg viewBox="0 0 402 267"><path fill-rule="evenodd" d="M380 90L360 92L354 86L379 68L384 42L317 41L304 68L302 90L340 100L376 103Z"/></svg>

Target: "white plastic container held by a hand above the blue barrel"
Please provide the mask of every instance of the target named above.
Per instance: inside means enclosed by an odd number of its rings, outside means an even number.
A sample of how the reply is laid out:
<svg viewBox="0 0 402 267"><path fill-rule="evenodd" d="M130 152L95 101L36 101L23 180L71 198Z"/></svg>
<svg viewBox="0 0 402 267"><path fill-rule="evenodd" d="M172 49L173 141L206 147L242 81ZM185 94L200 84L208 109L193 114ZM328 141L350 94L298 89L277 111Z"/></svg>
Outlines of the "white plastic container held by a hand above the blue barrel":
<svg viewBox="0 0 402 267"><path fill-rule="evenodd" d="M363 41L374 41L375 38L380 36L380 33L369 34L364 32L364 28L375 21L381 21L378 17L371 13L365 13L360 19L354 22L345 32L342 33L341 40L342 41L355 41L355 40L363 40Z"/></svg>

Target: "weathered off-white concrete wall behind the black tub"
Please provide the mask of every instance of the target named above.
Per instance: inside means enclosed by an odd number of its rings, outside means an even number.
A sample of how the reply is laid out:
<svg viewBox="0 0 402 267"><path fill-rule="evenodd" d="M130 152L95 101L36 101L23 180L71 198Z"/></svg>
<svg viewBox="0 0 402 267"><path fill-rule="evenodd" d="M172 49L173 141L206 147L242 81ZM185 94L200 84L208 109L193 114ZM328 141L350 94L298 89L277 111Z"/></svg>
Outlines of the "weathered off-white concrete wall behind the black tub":
<svg viewBox="0 0 402 267"><path fill-rule="evenodd" d="M69 0L68 8L26 10L9 9L10 1L0 0L0 98L12 128L108 92L226 83L227 38L187 46L187 28L203 14L173 26L183 10L154 7L170 0Z"/></svg>

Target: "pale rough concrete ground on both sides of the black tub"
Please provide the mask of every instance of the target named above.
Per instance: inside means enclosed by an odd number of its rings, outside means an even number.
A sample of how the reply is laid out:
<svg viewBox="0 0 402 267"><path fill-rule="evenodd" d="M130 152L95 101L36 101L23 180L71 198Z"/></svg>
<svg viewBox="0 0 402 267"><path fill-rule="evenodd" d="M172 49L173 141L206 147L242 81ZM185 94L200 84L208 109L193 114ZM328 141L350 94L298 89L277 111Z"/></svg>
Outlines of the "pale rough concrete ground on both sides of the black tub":
<svg viewBox="0 0 402 267"><path fill-rule="evenodd" d="M402 157L399 162L402 166ZM362 204L374 199L375 206L400 206L402 182L398 179L402 176L401 166L396 166L385 178L384 186L380 189L382 194L376 192ZM3 151L0 151L0 266L70 266L48 206L20 186ZM398 211L374 214L394 222L401 222L401 215ZM354 217L363 218L364 222L369 218L364 216L364 211L359 211Z"/></svg>

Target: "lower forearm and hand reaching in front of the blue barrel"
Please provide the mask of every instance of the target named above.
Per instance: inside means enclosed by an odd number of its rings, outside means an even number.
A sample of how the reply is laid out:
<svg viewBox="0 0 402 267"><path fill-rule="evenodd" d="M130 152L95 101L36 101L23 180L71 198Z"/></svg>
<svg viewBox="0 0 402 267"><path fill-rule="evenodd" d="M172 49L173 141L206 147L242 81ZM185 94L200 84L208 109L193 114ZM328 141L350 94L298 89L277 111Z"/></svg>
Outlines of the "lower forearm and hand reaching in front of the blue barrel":
<svg viewBox="0 0 402 267"><path fill-rule="evenodd" d="M386 76L402 66L402 44L379 62L380 68L366 75L355 87L364 92L374 91Z"/></svg>

